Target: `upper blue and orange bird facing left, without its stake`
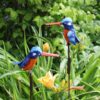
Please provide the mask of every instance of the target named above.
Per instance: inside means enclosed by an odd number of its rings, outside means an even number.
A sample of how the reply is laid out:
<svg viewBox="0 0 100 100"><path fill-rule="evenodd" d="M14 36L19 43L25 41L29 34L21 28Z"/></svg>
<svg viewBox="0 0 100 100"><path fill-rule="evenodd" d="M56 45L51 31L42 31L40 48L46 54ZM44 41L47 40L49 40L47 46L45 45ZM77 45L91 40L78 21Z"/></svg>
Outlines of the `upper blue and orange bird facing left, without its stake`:
<svg viewBox="0 0 100 100"><path fill-rule="evenodd" d="M64 18L61 22L53 22L53 23L47 23L46 25L51 26L51 25L63 25L64 26L64 38L68 43L72 43L76 45L79 43L79 39L75 34L75 29L73 27L72 19L71 18Z"/></svg>

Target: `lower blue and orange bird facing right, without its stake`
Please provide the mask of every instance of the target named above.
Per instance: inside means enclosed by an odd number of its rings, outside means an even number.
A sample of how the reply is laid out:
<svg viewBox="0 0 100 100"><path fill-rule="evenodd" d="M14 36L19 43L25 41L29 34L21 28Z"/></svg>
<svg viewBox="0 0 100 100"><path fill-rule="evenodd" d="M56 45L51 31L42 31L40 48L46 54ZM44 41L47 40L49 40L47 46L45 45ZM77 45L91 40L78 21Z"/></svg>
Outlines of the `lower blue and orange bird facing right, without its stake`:
<svg viewBox="0 0 100 100"><path fill-rule="evenodd" d="M37 62L37 57L39 56L52 56L59 57L58 54L46 53L42 52L41 48L38 46L32 47L29 54L25 57L25 59L21 62L15 62L14 64L18 64L20 68L23 70L31 70Z"/></svg>

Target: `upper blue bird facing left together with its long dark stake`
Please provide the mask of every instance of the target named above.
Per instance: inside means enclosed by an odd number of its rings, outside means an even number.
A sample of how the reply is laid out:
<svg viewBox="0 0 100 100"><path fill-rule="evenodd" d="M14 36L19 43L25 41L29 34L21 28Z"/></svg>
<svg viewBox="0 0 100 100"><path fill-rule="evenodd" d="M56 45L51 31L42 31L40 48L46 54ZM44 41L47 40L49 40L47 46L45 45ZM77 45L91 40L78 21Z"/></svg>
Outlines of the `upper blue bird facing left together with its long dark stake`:
<svg viewBox="0 0 100 100"><path fill-rule="evenodd" d="M70 48L69 45L72 43L73 45L76 45L79 43L79 39L75 34L75 29L73 27L72 19L67 17L64 18L61 22L53 22L53 23L47 23L47 26L51 25L63 25L64 26L64 38L67 42L68 46L68 62L67 62L67 73L68 73L68 98L70 98L70 69L71 69L71 58L70 58Z"/></svg>

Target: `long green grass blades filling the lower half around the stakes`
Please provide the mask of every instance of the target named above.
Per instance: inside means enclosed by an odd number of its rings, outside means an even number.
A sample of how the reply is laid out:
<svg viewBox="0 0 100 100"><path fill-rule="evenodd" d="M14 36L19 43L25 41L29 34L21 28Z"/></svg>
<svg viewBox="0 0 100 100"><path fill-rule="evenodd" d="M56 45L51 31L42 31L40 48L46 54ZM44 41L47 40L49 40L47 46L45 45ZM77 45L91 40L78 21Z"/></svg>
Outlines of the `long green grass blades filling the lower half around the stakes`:
<svg viewBox="0 0 100 100"><path fill-rule="evenodd" d="M32 26L34 35L26 38L24 33L23 46L25 54L29 52L28 42L30 39L35 39L37 45L42 48L43 42L50 44L50 51L53 52L52 44L44 37L42 37L41 29L37 31ZM13 65L13 61L19 61L20 58L10 54L5 47L0 48L0 99L2 100L28 100L29 99L29 79L28 73L22 71L17 65ZM64 46L64 49L66 46ZM93 48L93 47L91 47ZM16 49L20 49L17 47ZM71 91L72 100L99 100L100 98L100 52L97 51L78 51L71 49L71 80L73 85L84 85L83 91ZM21 51L21 49L20 49ZM19 51L19 55L20 52ZM74 52L75 53L74 53ZM24 58L24 57L22 57ZM57 58L58 59L58 58ZM56 84L60 84L61 80L66 77L66 57L59 58L61 63L59 66L54 64L52 57L40 57L38 62L32 70L33 75L33 99L34 100L66 100L67 91L54 92L50 89L45 88L38 82L38 78L46 74L47 71L51 70L58 77L55 81ZM58 70L55 70L55 68Z"/></svg>

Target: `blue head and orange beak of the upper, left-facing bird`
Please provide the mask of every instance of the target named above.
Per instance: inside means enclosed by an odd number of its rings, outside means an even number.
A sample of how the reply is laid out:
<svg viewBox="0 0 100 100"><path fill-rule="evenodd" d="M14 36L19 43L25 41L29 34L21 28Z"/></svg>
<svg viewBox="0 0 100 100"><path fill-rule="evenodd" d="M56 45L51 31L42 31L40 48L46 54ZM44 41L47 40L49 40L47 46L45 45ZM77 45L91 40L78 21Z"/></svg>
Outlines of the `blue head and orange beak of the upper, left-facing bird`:
<svg viewBox="0 0 100 100"><path fill-rule="evenodd" d="M52 22L52 23L47 23L46 25L47 26L63 25L64 29L67 29L67 30L73 29L72 19L69 17L64 18L61 22Z"/></svg>

